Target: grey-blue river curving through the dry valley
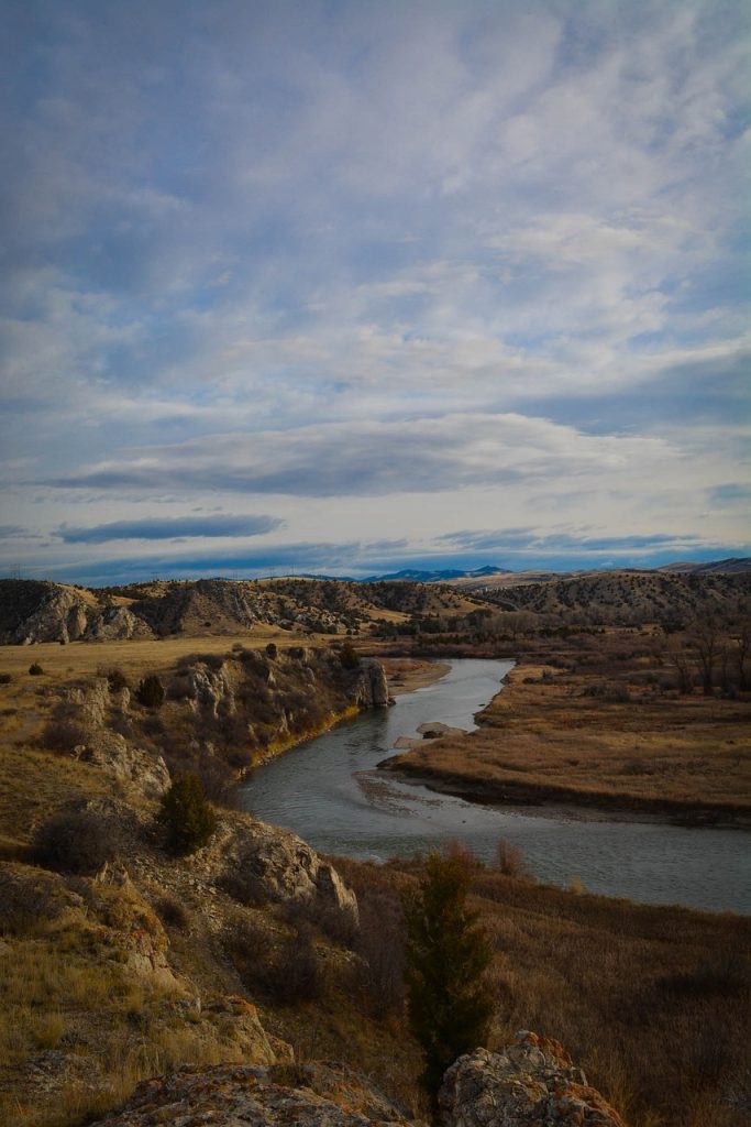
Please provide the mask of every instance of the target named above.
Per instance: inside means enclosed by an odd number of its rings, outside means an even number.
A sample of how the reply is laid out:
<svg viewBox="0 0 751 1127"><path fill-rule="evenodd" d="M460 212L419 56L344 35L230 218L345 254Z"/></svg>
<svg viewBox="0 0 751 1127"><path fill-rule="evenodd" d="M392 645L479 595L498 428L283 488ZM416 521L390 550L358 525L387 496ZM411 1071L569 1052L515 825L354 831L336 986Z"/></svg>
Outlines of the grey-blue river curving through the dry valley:
<svg viewBox="0 0 751 1127"><path fill-rule="evenodd" d="M445 677L397 696L393 708L364 712L258 767L243 788L245 808L325 853L385 860L461 840L493 860L504 837L545 882L576 879L608 896L751 914L751 850L743 831L484 807L375 770L396 739L415 735L421 724L474 728L474 715L499 691L511 664L453 660Z"/></svg>

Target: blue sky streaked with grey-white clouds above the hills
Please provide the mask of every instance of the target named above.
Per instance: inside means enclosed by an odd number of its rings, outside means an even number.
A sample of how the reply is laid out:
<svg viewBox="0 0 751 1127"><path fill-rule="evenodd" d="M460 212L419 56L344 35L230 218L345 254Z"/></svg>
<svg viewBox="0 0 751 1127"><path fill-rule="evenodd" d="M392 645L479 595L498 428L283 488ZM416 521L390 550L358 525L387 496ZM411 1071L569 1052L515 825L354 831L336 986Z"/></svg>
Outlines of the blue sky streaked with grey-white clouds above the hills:
<svg viewBox="0 0 751 1127"><path fill-rule="evenodd" d="M751 554L744 0L5 0L0 574Z"/></svg>

